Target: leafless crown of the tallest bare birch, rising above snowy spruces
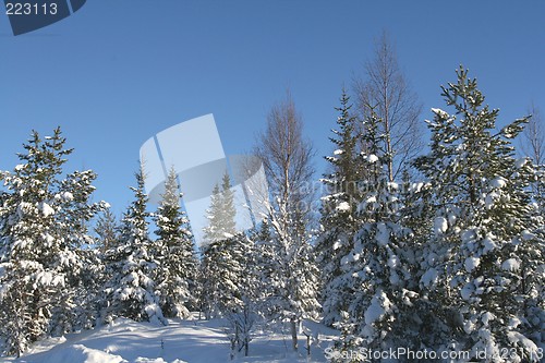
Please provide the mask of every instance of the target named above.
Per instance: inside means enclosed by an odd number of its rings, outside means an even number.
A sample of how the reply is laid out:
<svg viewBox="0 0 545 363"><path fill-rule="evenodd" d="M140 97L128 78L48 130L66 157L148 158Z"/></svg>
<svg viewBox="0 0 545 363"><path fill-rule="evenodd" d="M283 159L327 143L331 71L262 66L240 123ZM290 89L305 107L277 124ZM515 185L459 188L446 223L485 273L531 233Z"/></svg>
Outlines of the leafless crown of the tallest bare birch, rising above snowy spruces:
<svg viewBox="0 0 545 363"><path fill-rule="evenodd" d="M364 76L355 77L354 92L362 119L373 110L380 119L383 152L389 156L388 177L393 181L422 148L419 122L422 104L401 72L386 33L377 39L374 57L365 63Z"/></svg>

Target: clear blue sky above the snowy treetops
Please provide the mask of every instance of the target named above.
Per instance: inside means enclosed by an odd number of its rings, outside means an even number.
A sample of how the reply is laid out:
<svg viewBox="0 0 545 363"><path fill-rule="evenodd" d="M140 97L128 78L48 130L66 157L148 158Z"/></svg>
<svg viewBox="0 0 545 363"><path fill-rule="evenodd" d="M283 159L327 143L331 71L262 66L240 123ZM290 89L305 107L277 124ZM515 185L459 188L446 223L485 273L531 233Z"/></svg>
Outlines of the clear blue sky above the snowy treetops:
<svg viewBox="0 0 545 363"><path fill-rule="evenodd" d="M540 0L90 0L14 37L0 14L0 169L17 164L32 129L61 125L75 148L69 168L94 169L96 198L119 214L144 141L214 113L226 152L247 150L287 87L320 157L341 86L383 29L423 120L445 107L439 85L463 63L506 123L532 101L545 112L544 19Z"/></svg>

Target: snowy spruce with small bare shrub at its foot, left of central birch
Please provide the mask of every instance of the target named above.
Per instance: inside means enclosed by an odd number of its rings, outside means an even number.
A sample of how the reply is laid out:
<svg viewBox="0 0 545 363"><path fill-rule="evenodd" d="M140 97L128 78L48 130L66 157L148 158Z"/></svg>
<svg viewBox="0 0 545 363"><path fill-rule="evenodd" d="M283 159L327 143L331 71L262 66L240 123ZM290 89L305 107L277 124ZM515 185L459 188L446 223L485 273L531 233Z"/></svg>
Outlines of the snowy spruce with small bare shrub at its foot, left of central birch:
<svg viewBox="0 0 545 363"><path fill-rule="evenodd" d="M242 351L247 355L263 289L254 242L235 230L233 192L227 174L221 190L214 189L207 217L201 266L204 311L208 318L222 316L229 322L232 356Z"/></svg>

